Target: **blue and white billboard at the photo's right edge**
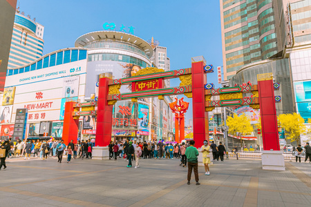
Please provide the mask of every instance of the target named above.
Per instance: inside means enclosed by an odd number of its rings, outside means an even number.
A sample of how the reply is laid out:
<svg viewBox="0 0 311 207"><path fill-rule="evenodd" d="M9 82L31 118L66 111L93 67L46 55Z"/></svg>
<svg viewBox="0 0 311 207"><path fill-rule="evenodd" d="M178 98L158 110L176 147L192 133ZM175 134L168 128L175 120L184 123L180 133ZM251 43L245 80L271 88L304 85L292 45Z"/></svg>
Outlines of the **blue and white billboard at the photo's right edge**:
<svg viewBox="0 0 311 207"><path fill-rule="evenodd" d="M311 118L311 81L294 82L297 112L308 121Z"/></svg>

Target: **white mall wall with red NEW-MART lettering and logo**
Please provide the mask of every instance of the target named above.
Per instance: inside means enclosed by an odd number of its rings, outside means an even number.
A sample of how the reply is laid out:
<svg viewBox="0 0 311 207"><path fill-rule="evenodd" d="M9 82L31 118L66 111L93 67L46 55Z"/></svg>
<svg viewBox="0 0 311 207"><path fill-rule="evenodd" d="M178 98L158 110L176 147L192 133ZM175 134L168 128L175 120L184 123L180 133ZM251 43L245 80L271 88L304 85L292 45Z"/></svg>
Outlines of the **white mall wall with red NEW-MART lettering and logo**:
<svg viewBox="0 0 311 207"><path fill-rule="evenodd" d="M30 122L59 120L62 98L65 97L63 88L73 87L68 95L70 99L73 95L84 99L86 63L84 59L6 77L6 86L16 87L13 108L28 108ZM68 80L71 81L66 82ZM14 111L12 122L15 116Z"/></svg>

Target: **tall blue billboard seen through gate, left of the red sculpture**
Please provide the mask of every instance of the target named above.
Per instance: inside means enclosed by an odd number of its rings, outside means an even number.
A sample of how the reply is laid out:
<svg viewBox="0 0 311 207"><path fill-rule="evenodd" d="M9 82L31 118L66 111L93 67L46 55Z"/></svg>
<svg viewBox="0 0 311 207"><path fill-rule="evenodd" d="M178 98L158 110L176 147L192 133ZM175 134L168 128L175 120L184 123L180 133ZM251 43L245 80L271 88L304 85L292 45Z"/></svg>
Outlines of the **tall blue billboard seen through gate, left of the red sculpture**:
<svg viewBox="0 0 311 207"><path fill-rule="evenodd" d="M149 135L149 106L138 104L138 130L140 135Z"/></svg>

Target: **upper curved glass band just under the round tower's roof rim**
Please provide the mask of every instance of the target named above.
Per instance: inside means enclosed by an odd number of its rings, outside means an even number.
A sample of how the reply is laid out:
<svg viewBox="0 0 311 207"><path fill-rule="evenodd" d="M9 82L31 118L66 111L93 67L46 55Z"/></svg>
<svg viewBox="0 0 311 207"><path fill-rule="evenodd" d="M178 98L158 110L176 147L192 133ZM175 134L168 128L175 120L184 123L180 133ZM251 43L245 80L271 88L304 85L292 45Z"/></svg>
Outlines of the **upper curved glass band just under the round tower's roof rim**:
<svg viewBox="0 0 311 207"><path fill-rule="evenodd" d="M140 48L131 45L130 43L122 43L120 41L97 41L88 43L84 48L116 48L116 49L123 49L123 50L129 50L132 52L137 52L140 55L143 55L144 57L149 57L146 55L146 52L141 50Z"/></svg>

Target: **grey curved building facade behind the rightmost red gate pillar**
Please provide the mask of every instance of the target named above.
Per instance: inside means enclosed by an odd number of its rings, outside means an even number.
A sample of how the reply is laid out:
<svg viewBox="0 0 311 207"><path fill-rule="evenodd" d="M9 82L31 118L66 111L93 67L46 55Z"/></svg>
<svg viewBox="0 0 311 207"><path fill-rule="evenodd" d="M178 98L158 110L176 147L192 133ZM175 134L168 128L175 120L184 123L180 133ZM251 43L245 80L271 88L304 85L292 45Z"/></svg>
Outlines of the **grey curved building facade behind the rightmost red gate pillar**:
<svg viewBox="0 0 311 207"><path fill-rule="evenodd" d="M251 81L252 84L257 84L257 75L272 72L277 83L281 83L279 91L275 91L275 95L281 95L281 103L276 103L276 112L292 113L294 112L294 103L292 101L292 86L290 81L290 66L288 59L277 59L269 62L261 63L256 66L249 66L238 71L232 79L230 86L235 84L241 85ZM247 94L246 96L249 96Z"/></svg>

